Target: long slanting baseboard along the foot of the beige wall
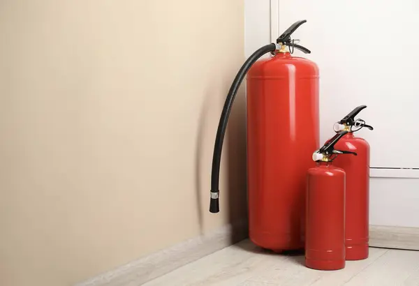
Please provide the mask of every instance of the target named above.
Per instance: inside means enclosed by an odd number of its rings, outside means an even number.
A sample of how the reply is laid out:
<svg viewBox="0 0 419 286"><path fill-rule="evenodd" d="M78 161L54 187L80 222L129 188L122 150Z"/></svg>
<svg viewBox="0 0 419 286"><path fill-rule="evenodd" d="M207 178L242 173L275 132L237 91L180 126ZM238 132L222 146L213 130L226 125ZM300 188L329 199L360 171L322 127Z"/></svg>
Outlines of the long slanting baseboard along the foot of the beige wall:
<svg viewBox="0 0 419 286"><path fill-rule="evenodd" d="M247 222L227 225L130 262L74 286L142 285L181 266L246 239Z"/></svg>

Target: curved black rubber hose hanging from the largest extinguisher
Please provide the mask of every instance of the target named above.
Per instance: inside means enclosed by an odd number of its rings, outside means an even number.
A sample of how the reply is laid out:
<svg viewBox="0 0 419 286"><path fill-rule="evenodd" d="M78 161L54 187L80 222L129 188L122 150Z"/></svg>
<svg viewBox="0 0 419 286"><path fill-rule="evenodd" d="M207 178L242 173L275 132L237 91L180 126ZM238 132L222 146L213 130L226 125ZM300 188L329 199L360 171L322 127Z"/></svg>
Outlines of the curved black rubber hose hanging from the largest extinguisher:
<svg viewBox="0 0 419 286"><path fill-rule="evenodd" d="M270 45L265 45L260 47L260 49L253 52L249 59L244 62L242 68L235 76L233 84L230 86L228 91L226 103L224 103L223 112L221 112L221 118L219 122L218 129L216 130L216 138L214 144L214 155L212 156L212 173L211 173L211 201L210 201L210 212L218 213L220 211L219 207L219 177L220 177L220 163L221 163L221 151L223 149L223 140L224 135L226 134L228 116L230 115L231 107L233 105L234 98L236 96L237 90L239 89L240 84L242 83L247 72L260 57L268 52L274 52L277 50L277 46L272 43Z"/></svg>

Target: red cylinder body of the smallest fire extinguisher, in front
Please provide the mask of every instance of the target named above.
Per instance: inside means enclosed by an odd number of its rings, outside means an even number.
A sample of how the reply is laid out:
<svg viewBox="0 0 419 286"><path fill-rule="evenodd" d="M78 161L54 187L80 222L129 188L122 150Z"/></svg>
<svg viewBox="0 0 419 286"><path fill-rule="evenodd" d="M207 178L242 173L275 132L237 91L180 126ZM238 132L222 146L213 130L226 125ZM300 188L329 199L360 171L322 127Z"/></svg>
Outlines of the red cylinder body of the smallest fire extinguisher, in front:
<svg viewBox="0 0 419 286"><path fill-rule="evenodd" d="M345 266L345 172L328 163L307 173L305 261L318 270Z"/></svg>

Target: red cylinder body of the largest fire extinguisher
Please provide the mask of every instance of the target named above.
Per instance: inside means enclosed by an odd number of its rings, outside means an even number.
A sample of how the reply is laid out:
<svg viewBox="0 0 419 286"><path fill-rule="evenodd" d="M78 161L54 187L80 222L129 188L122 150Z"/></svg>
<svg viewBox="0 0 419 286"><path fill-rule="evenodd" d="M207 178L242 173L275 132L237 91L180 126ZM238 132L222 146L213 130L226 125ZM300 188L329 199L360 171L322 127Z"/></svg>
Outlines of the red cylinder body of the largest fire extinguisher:
<svg viewBox="0 0 419 286"><path fill-rule="evenodd" d="M249 236L277 252L304 248L305 175L318 149L318 68L289 53L247 75Z"/></svg>

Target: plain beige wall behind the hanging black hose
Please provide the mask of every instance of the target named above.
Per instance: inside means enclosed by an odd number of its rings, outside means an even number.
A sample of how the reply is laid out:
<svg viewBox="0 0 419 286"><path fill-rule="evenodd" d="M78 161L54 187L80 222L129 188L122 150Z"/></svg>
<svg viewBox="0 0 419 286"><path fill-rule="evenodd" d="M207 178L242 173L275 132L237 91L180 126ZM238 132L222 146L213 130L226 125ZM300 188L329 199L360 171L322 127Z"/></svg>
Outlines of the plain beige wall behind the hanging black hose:
<svg viewBox="0 0 419 286"><path fill-rule="evenodd" d="M71 285L244 218L243 96L207 212L242 0L2 0L0 37L0 285Z"/></svg>

